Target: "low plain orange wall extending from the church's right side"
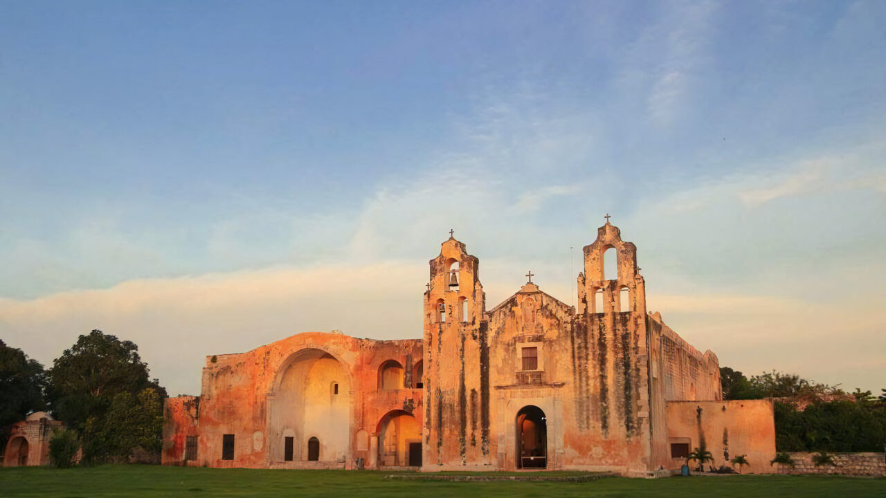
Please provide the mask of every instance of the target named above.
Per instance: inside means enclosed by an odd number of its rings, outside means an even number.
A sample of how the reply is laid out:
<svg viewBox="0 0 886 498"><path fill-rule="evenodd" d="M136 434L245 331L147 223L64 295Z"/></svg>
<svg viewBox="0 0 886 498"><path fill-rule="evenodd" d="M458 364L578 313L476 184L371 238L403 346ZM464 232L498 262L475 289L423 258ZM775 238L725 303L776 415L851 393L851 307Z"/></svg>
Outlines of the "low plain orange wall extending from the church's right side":
<svg viewBox="0 0 886 498"><path fill-rule="evenodd" d="M705 447L713 456L711 464L731 466L736 455L750 463L742 473L771 473L775 457L775 423L770 400L668 401L669 444L688 444L689 451ZM665 467L680 469L685 458L669 458ZM695 463L690 463L690 465Z"/></svg>

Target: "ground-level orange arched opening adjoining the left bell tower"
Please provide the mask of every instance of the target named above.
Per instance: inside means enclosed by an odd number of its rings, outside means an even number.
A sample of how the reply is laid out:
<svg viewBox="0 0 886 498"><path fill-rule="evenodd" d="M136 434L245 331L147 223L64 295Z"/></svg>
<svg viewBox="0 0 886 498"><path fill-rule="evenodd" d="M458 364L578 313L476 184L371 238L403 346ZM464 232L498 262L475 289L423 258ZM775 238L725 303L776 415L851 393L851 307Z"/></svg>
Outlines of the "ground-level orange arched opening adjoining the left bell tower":
<svg viewBox="0 0 886 498"><path fill-rule="evenodd" d="M422 427L408 411L392 410L378 421L378 464L421 466Z"/></svg>

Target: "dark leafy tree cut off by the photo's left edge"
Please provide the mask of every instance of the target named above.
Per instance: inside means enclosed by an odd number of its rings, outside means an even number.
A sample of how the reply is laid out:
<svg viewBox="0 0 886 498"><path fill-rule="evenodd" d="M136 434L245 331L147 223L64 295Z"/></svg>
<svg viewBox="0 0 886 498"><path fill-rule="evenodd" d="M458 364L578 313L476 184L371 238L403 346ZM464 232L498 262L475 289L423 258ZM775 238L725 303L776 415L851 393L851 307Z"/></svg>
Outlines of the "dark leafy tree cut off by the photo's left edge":
<svg viewBox="0 0 886 498"><path fill-rule="evenodd" d="M8 425L46 408L45 387L43 365L0 339L0 448L6 447Z"/></svg>

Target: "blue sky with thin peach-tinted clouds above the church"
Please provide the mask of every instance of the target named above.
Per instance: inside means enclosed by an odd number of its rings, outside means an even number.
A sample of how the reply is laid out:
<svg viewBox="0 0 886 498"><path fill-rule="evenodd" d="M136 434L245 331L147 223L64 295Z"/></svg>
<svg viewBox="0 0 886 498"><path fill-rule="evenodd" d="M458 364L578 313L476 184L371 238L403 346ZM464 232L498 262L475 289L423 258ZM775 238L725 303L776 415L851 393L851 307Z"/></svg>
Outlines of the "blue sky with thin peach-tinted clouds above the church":
<svg viewBox="0 0 886 498"><path fill-rule="evenodd" d="M487 307L528 268L571 302L608 212L722 364L886 386L882 2L0 12L0 337L44 363L99 328L196 393L205 354L418 337L450 228Z"/></svg>

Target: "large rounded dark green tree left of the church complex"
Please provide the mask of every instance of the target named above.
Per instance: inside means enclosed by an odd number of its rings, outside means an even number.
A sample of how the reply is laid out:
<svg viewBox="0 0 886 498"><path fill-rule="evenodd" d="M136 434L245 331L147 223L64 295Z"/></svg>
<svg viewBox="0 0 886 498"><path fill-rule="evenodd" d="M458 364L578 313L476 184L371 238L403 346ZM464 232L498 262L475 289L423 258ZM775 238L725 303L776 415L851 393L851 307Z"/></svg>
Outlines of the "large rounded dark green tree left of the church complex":
<svg viewBox="0 0 886 498"><path fill-rule="evenodd" d="M132 449L129 440L121 440L122 432L113 425L121 421L139 434L143 429L156 430L157 438L160 437L159 428L152 424L145 428L141 424L151 416L162 416L166 390L156 379L149 378L148 366L142 362L138 346L132 341L121 341L102 331L82 335L55 360L49 378L48 393L56 415L80 434L86 463L128 455ZM145 389L156 393L159 401L151 403L146 396L139 395ZM120 394L129 397L118 399ZM136 398L150 411L144 418L130 423L124 420L128 412L123 405L135 403Z"/></svg>

